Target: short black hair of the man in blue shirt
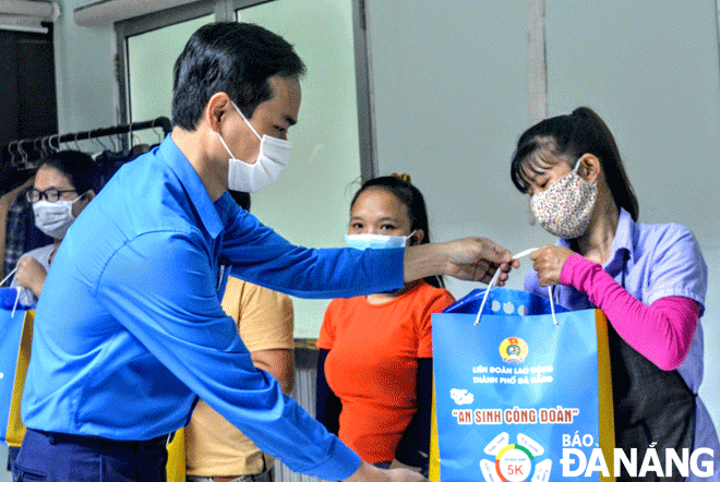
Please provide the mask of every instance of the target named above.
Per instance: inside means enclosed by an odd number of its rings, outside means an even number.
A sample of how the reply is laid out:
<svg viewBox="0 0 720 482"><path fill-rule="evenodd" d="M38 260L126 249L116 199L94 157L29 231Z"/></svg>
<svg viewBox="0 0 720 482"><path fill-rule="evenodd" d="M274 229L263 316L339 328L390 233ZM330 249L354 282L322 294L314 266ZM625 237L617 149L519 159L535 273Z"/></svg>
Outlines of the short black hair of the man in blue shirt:
<svg viewBox="0 0 720 482"><path fill-rule="evenodd" d="M259 25L203 25L175 63L172 122L194 131L209 98L218 92L226 93L250 118L259 104L273 96L269 77L299 77L304 72L292 46Z"/></svg>

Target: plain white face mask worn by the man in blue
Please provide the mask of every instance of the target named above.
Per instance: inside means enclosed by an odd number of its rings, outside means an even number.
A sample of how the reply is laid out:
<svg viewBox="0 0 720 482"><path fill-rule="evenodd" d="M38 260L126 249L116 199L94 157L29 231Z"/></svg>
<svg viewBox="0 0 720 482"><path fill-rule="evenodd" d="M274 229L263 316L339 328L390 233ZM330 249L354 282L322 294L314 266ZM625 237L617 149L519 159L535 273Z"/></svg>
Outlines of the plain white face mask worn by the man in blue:
<svg viewBox="0 0 720 482"><path fill-rule="evenodd" d="M261 137L235 103L232 103L232 107L235 107L235 110L242 117L242 120L245 121L250 129L252 129L252 132L260 138L260 154L255 164L243 162L232 155L220 133L217 133L225 150L230 155L228 189L254 193L274 184L283 171L287 169L290 164L290 148L292 147L292 143L272 137L267 134L263 134Z"/></svg>

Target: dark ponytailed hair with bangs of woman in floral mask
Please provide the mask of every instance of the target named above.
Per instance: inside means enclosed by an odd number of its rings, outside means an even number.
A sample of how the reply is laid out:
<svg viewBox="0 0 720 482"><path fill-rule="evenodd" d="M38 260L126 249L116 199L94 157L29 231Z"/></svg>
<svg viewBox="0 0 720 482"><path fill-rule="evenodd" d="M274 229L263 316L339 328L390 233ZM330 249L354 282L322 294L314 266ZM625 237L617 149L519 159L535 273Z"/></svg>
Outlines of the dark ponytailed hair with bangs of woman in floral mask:
<svg viewBox="0 0 720 482"><path fill-rule="evenodd" d="M592 154L600 159L615 205L624 208L637 221L640 208L625 173L615 138L600 116L589 107L578 107L569 116L545 119L525 131L513 155L513 184L520 192L527 193L530 181L525 171L540 173L538 169L547 168L544 156L553 155L571 164L583 154Z"/></svg>

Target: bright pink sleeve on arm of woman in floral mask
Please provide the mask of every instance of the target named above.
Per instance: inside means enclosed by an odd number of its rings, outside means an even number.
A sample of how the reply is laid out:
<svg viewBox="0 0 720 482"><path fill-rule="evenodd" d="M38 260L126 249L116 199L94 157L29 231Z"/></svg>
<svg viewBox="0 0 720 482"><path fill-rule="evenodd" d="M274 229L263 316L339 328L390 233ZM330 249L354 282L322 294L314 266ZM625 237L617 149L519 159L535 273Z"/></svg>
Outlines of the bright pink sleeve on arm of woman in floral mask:
<svg viewBox="0 0 720 482"><path fill-rule="evenodd" d="M617 334L661 370L675 370L693 342L699 306L685 297L667 297L647 305L629 294L597 263L575 253L560 282L573 286L602 310Z"/></svg>

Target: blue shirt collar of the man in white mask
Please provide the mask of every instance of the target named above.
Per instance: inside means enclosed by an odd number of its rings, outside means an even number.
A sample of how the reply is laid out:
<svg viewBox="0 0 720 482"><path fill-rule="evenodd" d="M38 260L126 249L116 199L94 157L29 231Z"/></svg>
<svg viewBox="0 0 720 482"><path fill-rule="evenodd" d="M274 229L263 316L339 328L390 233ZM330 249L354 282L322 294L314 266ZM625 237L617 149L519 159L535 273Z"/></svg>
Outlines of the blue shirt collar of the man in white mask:
<svg viewBox="0 0 720 482"><path fill-rule="evenodd" d="M178 180L188 193L190 203L195 207L200 219L207 232L217 238L223 232L224 225L220 216L213 204L213 201L205 189L205 184L197 176L197 172L190 164L190 160L180 150L180 147L172 141L170 134L165 137L165 141L158 147L158 158L163 159L170 169L178 177Z"/></svg>

